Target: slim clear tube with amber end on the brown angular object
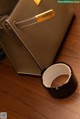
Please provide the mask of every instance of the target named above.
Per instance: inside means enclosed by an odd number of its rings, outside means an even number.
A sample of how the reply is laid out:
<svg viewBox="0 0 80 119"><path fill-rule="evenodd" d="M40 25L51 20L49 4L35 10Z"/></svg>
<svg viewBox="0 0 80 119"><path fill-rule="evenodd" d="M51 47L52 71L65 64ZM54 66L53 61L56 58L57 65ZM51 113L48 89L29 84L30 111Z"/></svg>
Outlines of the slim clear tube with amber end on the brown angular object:
<svg viewBox="0 0 80 119"><path fill-rule="evenodd" d="M18 27L18 28L24 28L24 27L28 27L43 21L46 21L48 19L53 18L55 15L55 12L53 11L53 9L50 9L48 11L45 11L43 13L40 13L32 18L20 21L20 22L16 22L14 21L14 24Z"/></svg>

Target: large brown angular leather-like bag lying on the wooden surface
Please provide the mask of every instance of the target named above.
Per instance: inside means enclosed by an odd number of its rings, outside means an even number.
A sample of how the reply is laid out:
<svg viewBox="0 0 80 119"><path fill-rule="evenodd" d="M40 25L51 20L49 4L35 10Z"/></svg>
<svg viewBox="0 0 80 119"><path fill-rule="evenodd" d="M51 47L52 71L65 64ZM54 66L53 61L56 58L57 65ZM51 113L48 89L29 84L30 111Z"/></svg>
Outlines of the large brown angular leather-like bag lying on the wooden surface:
<svg viewBox="0 0 80 119"><path fill-rule="evenodd" d="M56 0L38 6L34 0L19 0L0 40L18 73L41 75L53 63L72 16L72 9Z"/></svg>

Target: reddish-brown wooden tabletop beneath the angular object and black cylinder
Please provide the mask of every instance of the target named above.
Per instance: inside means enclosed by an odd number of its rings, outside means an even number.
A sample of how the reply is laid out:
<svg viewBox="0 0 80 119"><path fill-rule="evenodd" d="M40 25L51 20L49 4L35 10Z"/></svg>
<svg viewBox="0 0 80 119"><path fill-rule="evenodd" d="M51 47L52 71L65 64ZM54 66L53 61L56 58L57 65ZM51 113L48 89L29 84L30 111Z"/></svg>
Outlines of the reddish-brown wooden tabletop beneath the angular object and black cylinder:
<svg viewBox="0 0 80 119"><path fill-rule="evenodd" d="M76 17L68 31L57 62L73 68L77 90L55 99L42 86L41 77L18 75L7 58L0 61L0 112L8 119L80 119L80 4L72 4Z"/></svg>

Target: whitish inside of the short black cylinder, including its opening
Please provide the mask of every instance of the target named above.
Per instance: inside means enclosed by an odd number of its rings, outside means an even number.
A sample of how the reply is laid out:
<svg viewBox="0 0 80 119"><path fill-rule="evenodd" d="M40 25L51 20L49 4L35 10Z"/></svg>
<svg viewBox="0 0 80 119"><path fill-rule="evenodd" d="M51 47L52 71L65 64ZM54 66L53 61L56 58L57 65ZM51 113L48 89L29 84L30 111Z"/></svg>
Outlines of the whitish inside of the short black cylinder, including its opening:
<svg viewBox="0 0 80 119"><path fill-rule="evenodd" d="M64 81L59 81L60 77L64 77L66 76ZM55 80L58 82L62 82L62 83L56 83L58 84L58 87L61 85L64 85L65 83L67 83L67 81L69 80L71 76L71 69L68 65L63 64L63 63L57 63L54 64L52 66L50 66L42 75L42 81L43 81L43 85L45 87L50 88L52 86L52 84L54 84ZM63 78L64 79L64 78ZM61 79L60 79L61 80ZM57 85L56 85L57 86ZM52 86L55 87L55 86Z"/></svg>

